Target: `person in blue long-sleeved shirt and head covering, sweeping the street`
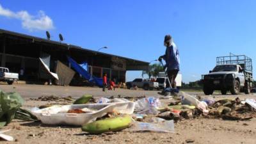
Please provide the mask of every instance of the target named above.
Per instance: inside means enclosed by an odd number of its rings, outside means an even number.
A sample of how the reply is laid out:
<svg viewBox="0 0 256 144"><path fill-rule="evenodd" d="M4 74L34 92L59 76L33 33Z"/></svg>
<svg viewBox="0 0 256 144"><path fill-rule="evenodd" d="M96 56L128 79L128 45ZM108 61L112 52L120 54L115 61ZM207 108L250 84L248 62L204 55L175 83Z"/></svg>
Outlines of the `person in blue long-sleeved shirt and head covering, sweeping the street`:
<svg viewBox="0 0 256 144"><path fill-rule="evenodd" d="M172 88L177 88L175 78L177 77L177 74L180 70L180 56L179 56L179 50L177 46L174 44L172 36L166 35L164 36L164 46L166 46L166 51L163 56L159 57L159 61L164 59L166 61L166 65L164 67L167 68L167 74L168 78L170 79L170 83ZM170 87L170 84L166 84L166 88ZM161 93L163 95L164 91ZM175 93L172 93L175 95Z"/></svg>

